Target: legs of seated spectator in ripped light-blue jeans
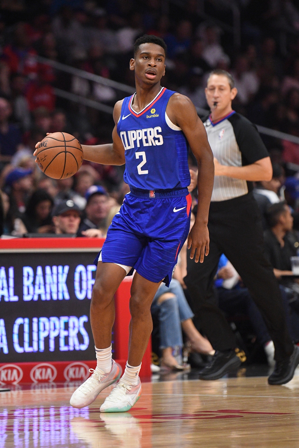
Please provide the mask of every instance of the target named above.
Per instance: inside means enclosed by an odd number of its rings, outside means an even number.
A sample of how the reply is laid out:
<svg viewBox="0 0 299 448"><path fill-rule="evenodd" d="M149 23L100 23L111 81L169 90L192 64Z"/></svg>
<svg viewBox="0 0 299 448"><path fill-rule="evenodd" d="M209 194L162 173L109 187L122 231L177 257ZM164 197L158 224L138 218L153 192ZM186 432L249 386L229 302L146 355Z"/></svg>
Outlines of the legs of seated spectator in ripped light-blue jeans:
<svg viewBox="0 0 299 448"><path fill-rule="evenodd" d="M165 284L160 285L152 302L151 313L157 315L159 320L161 367L171 370L185 370L189 367L173 356L176 349L182 351L182 329L192 350L203 354L215 353L209 341L195 328L192 322L194 314L178 280L171 280L169 288Z"/></svg>

